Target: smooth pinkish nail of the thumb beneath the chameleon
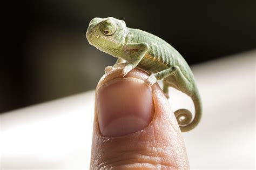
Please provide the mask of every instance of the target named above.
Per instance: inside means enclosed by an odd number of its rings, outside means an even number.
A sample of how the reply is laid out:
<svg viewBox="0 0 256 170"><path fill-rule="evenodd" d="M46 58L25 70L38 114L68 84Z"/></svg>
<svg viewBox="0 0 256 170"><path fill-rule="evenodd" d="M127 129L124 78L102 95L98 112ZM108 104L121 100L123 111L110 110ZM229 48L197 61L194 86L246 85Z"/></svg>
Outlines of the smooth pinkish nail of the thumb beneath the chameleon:
<svg viewBox="0 0 256 170"><path fill-rule="evenodd" d="M137 78L114 79L96 92L99 130L120 137L143 130L154 113L152 90Z"/></svg>

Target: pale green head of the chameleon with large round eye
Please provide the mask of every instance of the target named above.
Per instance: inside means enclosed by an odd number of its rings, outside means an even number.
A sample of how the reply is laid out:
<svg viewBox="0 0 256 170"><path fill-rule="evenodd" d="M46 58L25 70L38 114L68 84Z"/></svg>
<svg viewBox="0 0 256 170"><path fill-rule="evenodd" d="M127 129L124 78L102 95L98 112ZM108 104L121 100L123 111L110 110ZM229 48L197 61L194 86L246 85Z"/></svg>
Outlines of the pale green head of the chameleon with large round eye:
<svg viewBox="0 0 256 170"><path fill-rule="evenodd" d="M104 52L123 46L129 33L124 21L109 18L93 18L86 32L88 42Z"/></svg>

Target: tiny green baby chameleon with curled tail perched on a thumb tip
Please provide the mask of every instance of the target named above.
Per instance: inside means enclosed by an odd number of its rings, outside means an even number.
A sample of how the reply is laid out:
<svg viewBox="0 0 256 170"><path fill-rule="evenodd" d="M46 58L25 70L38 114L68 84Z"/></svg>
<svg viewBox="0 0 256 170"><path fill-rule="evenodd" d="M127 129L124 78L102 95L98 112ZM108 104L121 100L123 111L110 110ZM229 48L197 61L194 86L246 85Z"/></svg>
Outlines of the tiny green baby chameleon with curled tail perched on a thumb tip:
<svg viewBox="0 0 256 170"><path fill-rule="evenodd" d="M127 63L122 70L123 76L139 67L151 74L147 84L152 86L157 80L163 80L167 98L169 87L191 97L194 117L186 109L174 112L181 132L190 131L199 124L202 104L196 80L185 59L169 43L146 31L128 28L123 20L113 17L93 18L86 38L98 50L118 58L116 64Z"/></svg>

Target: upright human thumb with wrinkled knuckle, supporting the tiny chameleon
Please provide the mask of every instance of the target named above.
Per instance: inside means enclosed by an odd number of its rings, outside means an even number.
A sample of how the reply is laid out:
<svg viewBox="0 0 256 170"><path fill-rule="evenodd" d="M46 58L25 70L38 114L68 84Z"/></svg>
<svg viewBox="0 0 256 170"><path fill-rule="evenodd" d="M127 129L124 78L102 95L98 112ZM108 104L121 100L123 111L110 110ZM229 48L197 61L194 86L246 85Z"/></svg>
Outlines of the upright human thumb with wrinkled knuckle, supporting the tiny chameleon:
<svg viewBox="0 0 256 170"><path fill-rule="evenodd" d="M106 73L96 89L91 169L188 169L170 104L149 75L125 64Z"/></svg>

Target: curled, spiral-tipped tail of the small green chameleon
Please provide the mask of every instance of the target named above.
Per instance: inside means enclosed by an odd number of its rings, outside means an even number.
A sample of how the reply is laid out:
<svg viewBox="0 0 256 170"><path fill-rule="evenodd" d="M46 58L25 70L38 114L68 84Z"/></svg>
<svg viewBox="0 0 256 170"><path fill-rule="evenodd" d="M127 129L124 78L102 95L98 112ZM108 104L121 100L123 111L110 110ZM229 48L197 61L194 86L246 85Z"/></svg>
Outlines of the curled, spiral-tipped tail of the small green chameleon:
<svg viewBox="0 0 256 170"><path fill-rule="evenodd" d="M198 125L201 119L202 106L201 106L199 93L198 92L194 93L191 96L191 99L193 100L194 108L195 108L195 115L193 120L192 120L192 113L186 109L179 109L174 112L181 132L187 132L192 130L194 127Z"/></svg>

